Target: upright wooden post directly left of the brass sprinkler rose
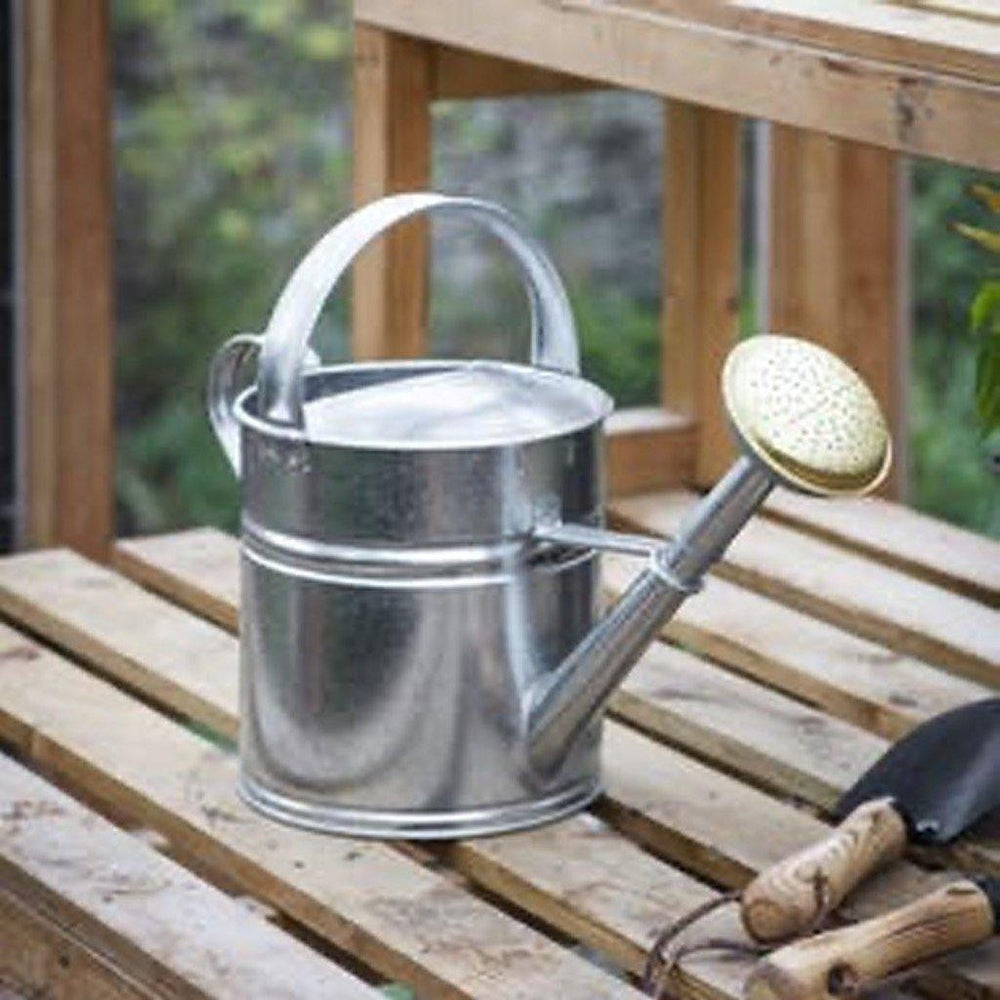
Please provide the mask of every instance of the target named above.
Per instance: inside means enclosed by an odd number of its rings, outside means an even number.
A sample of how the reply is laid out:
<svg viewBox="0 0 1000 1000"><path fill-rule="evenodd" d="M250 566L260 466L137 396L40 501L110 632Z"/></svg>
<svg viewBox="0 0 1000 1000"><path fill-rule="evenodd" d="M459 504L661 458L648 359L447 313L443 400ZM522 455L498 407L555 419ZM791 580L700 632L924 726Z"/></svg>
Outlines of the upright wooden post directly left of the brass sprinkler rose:
<svg viewBox="0 0 1000 1000"><path fill-rule="evenodd" d="M666 105L663 178L663 405L696 423L694 481L733 457L719 372L740 307L740 119Z"/></svg>

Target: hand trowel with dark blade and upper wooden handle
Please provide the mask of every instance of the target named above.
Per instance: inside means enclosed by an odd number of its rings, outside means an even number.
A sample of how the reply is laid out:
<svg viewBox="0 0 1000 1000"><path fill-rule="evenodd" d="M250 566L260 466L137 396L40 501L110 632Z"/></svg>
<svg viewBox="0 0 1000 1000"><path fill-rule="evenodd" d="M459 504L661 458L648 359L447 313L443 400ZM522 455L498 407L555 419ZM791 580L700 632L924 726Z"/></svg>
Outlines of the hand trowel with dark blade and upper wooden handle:
<svg viewBox="0 0 1000 1000"><path fill-rule="evenodd" d="M750 883L744 926L763 943L806 933L907 845L948 843L998 807L1000 698L988 698L896 743L840 800L842 822L826 839Z"/></svg>

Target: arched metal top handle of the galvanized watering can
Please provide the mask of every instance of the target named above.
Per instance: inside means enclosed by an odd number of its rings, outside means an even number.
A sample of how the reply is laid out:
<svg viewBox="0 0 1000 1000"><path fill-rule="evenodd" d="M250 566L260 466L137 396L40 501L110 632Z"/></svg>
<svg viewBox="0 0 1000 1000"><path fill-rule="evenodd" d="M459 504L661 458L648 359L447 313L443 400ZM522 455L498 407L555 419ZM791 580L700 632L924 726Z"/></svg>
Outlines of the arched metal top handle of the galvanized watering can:
<svg viewBox="0 0 1000 1000"><path fill-rule="evenodd" d="M497 205L431 193L393 195L358 209L334 226L302 259L261 339L257 386L260 414L301 429L302 366L327 296L354 258L376 236L424 212L467 216L485 225L517 259L531 304L532 363L578 374L573 314L562 281L541 246Z"/></svg>

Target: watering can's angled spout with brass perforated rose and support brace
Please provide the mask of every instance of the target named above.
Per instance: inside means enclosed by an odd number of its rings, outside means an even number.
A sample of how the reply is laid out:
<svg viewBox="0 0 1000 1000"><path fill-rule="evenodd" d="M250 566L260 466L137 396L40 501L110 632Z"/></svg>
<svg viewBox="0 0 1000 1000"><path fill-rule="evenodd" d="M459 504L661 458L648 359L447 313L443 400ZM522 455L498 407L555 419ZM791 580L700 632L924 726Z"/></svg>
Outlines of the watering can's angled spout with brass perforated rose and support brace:
<svg viewBox="0 0 1000 1000"><path fill-rule="evenodd" d="M558 768L776 485L816 496L858 496L888 472L891 446L877 402L850 368L821 348L786 337L752 338L730 354L722 383L744 454L689 512L674 539L647 543L645 570L566 659L527 692L528 760L539 773ZM536 529L540 537L563 544L587 544L588 531L594 547L625 548L616 544L619 536L597 529ZM630 544L630 551L639 548L634 537Z"/></svg>

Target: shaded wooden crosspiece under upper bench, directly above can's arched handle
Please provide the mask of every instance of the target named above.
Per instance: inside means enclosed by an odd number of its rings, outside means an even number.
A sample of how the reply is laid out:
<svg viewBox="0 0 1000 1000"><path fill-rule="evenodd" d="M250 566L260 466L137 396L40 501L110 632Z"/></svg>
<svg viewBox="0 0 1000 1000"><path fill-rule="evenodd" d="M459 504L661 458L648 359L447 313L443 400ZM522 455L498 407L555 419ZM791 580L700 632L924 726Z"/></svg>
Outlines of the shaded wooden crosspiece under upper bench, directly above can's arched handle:
<svg viewBox="0 0 1000 1000"><path fill-rule="evenodd" d="M431 92L436 99L512 97L518 94L572 93L595 84L510 59L435 45Z"/></svg>

